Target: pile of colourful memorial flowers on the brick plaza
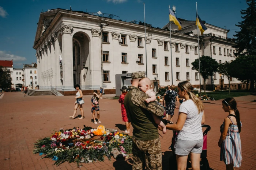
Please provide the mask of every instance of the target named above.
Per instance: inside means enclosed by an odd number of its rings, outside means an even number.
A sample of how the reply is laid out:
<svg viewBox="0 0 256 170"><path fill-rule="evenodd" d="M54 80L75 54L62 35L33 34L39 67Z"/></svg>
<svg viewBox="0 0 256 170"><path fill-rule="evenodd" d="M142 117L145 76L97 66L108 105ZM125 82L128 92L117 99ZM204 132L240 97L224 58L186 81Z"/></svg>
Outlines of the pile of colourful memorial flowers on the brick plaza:
<svg viewBox="0 0 256 170"><path fill-rule="evenodd" d="M54 165L67 161L76 162L79 166L82 162L104 161L104 156L110 159L113 148L128 157L132 153L132 137L117 130L105 130L102 125L97 129L84 125L83 129L60 129L50 137L36 141L34 147L33 154L39 153L43 156L41 159L52 158L56 161Z"/></svg>

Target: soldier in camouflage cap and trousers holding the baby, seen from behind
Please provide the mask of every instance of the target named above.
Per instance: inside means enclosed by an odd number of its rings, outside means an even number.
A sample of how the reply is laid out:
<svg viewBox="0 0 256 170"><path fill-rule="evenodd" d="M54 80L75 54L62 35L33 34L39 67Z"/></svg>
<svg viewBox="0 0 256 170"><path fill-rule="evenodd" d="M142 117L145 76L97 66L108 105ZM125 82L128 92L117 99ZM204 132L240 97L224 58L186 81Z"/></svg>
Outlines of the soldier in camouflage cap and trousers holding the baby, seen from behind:
<svg viewBox="0 0 256 170"><path fill-rule="evenodd" d="M161 143L158 125L151 113L163 116L163 107L156 102L146 103L148 95L138 88L139 79L145 72L132 73L132 86L125 95L124 106L133 127L133 170L142 170L143 162L147 169L162 170Z"/></svg>

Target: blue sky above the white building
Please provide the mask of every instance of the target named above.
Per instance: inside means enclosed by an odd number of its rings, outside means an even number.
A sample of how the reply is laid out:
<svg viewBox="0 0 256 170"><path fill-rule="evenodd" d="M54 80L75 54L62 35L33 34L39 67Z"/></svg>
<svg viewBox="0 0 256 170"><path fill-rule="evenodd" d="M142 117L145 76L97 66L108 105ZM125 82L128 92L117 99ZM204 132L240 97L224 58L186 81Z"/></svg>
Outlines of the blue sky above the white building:
<svg viewBox="0 0 256 170"><path fill-rule="evenodd" d="M177 17L195 20L196 1L193 0L2 0L0 2L0 60L14 60L15 68L36 62L35 32L42 10L63 8L73 11L111 13L122 20L143 21L143 2L146 23L163 27L169 21L168 5L176 6ZM218 27L230 29L233 37L241 21L241 9L248 6L245 0L197 0L198 14L202 20ZM115 18L117 19L117 18Z"/></svg>

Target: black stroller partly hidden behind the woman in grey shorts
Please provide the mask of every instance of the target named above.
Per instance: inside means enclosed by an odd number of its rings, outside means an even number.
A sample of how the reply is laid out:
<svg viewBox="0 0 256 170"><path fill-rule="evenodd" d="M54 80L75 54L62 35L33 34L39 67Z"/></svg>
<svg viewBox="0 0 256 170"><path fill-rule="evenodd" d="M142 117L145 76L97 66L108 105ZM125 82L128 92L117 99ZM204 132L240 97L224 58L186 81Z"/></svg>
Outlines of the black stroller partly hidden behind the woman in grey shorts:
<svg viewBox="0 0 256 170"><path fill-rule="evenodd" d="M211 130L211 126L202 124L202 128L206 128L206 130L203 132L204 137L204 143L203 143L203 151L201 153L201 161L200 161L200 170L209 170L209 162L207 160L207 133L209 130ZM172 150L173 156L169 159L169 167L170 169L177 169L177 161L176 161L176 154L174 153L174 144L175 144L175 138L177 137L177 132L173 131L173 138L172 138L172 145L169 147L170 150Z"/></svg>

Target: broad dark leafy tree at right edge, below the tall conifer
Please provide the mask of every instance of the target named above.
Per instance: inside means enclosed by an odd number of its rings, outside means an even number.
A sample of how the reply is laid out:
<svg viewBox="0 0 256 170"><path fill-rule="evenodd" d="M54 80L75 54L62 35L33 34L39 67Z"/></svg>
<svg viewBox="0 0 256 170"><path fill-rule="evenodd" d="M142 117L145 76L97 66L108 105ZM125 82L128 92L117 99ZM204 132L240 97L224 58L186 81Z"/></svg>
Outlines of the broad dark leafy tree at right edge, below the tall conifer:
<svg viewBox="0 0 256 170"><path fill-rule="evenodd" d="M250 90L254 90L256 79L256 56L239 56L230 63L230 75L240 81L250 81ZM249 80L249 81L248 81Z"/></svg>

